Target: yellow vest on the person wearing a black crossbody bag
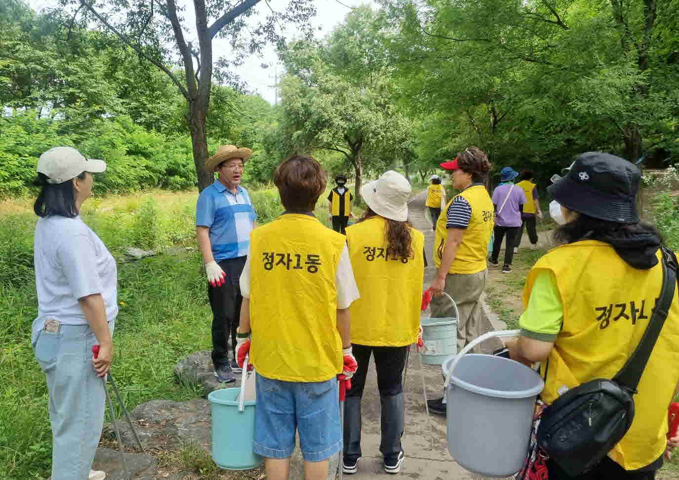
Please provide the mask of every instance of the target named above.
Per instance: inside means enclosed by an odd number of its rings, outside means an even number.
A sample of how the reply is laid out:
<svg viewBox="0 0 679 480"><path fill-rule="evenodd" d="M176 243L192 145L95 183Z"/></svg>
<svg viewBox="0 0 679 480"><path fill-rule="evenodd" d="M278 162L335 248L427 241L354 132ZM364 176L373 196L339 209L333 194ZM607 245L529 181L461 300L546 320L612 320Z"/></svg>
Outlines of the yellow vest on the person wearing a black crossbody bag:
<svg viewBox="0 0 679 480"><path fill-rule="evenodd" d="M650 270L630 267L611 245L594 240L562 245L528 273L524 308L540 271L551 271L564 322L547 362L543 401L596 378L612 378L641 341L662 285L660 251ZM634 421L608 456L626 470L642 468L665 450L667 406L679 380L678 293L634 396Z"/></svg>

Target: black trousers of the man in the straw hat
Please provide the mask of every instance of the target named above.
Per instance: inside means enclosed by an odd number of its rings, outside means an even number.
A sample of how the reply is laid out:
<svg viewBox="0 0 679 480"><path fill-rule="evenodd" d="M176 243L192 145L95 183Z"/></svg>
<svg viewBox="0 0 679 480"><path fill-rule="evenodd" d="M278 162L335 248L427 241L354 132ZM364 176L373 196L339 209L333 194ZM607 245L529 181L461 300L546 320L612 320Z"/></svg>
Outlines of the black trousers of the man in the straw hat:
<svg viewBox="0 0 679 480"><path fill-rule="evenodd" d="M215 369L229 362L228 339L231 335L231 349L236 358L236 328L240 322L240 304L243 297L240 294L240 274L245 266L246 256L228 258L217 262L226 274L221 287L208 284L208 300L213 311L212 359Z"/></svg>

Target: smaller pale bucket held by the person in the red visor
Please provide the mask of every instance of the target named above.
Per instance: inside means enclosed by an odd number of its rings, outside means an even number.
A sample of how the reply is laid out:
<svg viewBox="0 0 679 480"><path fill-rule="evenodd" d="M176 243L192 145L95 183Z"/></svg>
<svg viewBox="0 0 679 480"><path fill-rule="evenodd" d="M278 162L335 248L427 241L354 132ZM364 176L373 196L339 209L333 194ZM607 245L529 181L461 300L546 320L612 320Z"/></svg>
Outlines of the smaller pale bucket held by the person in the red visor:
<svg viewBox="0 0 679 480"><path fill-rule="evenodd" d="M442 365L445 360L458 353L458 306L450 296L447 296L454 309L454 317L425 318L422 324L422 341L425 350L422 362L429 365Z"/></svg>

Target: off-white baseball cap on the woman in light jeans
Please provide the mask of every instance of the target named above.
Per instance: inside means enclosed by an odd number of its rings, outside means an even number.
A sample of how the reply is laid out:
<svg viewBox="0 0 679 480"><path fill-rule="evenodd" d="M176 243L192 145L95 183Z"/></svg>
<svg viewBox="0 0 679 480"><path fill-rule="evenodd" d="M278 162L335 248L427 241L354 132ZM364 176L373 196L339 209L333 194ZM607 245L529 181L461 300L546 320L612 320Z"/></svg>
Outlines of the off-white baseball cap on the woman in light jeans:
<svg viewBox="0 0 679 480"><path fill-rule="evenodd" d="M85 158L73 147L54 147L38 158L38 173L48 177L48 184L62 184L84 171L101 173L106 170L104 160Z"/></svg>

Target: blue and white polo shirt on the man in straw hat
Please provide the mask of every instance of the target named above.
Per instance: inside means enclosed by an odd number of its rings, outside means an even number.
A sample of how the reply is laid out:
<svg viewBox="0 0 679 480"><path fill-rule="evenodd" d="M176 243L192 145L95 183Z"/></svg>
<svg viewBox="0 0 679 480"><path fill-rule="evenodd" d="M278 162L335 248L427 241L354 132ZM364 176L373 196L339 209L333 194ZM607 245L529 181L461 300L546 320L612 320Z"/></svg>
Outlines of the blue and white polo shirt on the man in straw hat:
<svg viewBox="0 0 679 480"><path fill-rule="evenodd" d="M210 245L215 261L248 254L250 233L257 213L247 190L228 190L219 180L200 192L196 204L196 226L210 228Z"/></svg>

